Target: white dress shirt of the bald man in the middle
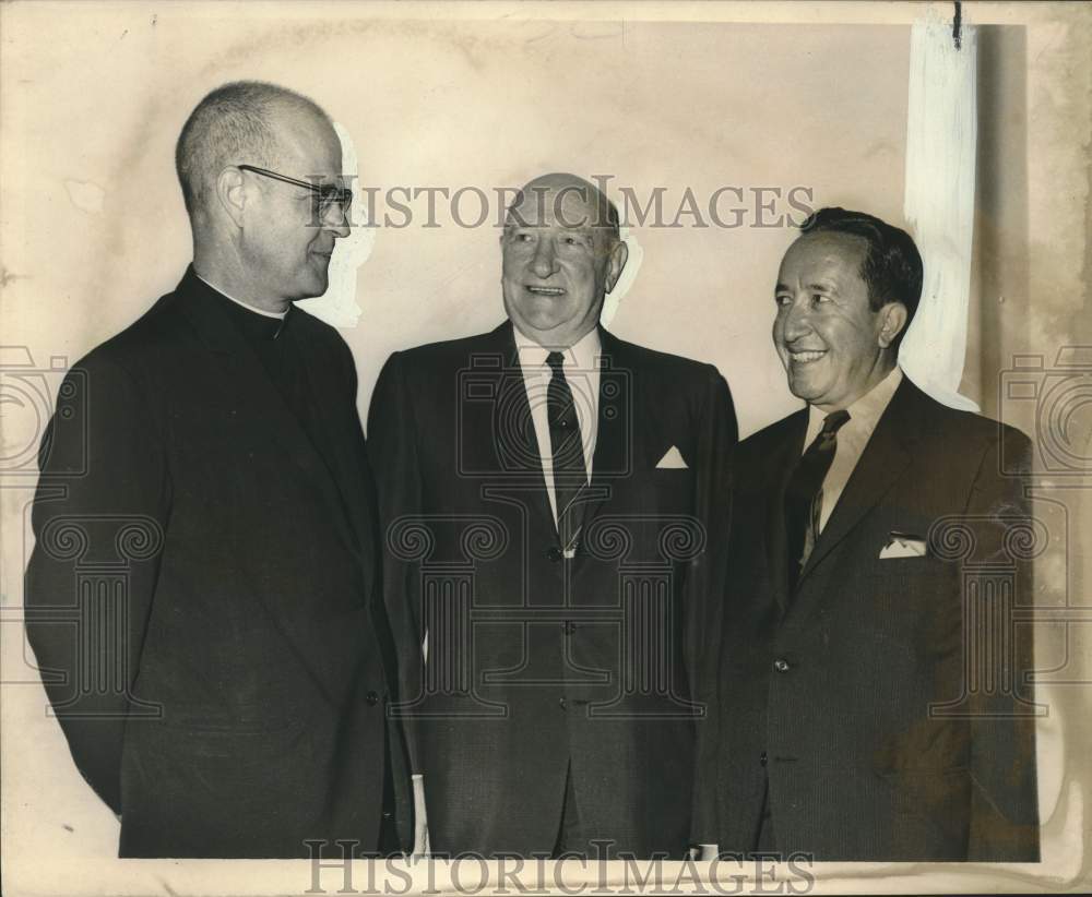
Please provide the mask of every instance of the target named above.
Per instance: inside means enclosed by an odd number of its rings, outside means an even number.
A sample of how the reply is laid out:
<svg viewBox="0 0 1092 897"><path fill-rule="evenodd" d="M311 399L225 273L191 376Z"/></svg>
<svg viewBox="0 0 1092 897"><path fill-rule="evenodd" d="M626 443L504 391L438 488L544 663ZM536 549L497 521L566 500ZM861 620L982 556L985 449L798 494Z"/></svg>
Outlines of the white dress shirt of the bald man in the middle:
<svg viewBox="0 0 1092 897"><path fill-rule="evenodd" d="M549 419L546 415L546 391L549 387L554 372L546 363L546 356L554 349L539 346L515 327L515 348L520 356L520 369L523 372L523 386L527 391L527 404L531 406L531 419L535 424L535 438L538 440L538 457L543 465L543 477L546 480L546 492L549 494L549 506L557 522L557 495L554 490L554 446L549 441ZM566 382L572 393L572 403L577 406L577 420L580 422L580 438L584 447L584 468L587 470L587 481L592 478L592 457L595 454L595 438L600 426L600 332L592 330L573 346L557 349L565 356L562 370Z"/></svg>

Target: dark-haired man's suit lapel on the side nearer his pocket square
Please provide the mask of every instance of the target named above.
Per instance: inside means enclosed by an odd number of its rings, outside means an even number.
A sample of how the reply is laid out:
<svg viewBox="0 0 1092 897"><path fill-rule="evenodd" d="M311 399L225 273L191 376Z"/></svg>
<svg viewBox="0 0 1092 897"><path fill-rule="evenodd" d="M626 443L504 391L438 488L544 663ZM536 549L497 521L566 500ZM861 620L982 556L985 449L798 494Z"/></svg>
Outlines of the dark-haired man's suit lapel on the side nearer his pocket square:
<svg viewBox="0 0 1092 897"><path fill-rule="evenodd" d="M903 376L865 445L857 466L853 468L827 526L816 540L815 549L800 572L800 583L850 535L860 518L876 506L905 473L913 459L911 446L916 441L914 408L917 395L917 387Z"/></svg>

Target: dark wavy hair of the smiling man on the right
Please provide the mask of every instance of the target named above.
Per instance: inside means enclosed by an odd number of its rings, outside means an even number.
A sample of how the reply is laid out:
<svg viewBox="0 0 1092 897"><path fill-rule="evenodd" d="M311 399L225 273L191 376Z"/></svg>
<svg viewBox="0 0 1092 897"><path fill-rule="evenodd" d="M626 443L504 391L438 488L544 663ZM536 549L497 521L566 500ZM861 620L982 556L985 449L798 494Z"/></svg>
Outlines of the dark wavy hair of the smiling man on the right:
<svg viewBox="0 0 1092 897"><path fill-rule="evenodd" d="M906 326L892 344L898 346L910 330L922 298L922 255L913 237L875 215L838 206L812 213L800 225L800 232L851 234L865 239L867 248L860 262L860 278L868 286L869 308L879 311L888 302L906 307Z"/></svg>

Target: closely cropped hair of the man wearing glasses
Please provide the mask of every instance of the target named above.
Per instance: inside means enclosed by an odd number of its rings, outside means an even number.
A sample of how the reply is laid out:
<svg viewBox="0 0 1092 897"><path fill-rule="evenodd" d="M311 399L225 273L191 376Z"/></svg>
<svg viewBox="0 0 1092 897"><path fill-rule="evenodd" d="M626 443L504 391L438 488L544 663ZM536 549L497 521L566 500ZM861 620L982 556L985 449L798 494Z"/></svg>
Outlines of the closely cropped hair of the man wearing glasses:
<svg viewBox="0 0 1092 897"><path fill-rule="evenodd" d="M264 81L233 81L197 105L175 147L175 170L191 216L226 166L276 166L280 147L273 115L286 106L311 111L332 127L314 100Z"/></svg>

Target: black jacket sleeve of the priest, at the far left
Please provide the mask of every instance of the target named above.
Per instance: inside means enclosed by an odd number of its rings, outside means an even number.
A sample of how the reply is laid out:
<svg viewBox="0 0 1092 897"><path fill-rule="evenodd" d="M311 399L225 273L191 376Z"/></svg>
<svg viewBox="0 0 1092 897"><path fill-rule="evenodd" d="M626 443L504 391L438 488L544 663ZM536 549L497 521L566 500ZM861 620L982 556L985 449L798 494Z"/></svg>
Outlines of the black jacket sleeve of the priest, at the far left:
<svg viewBox="0 0 1092 897"><path fill-rule="evenodd" d="M167 519L152 421L133 380L103 356L69 373L39 452L24 583L27 638L54 713L80 773L115 813Z"/></svg>

